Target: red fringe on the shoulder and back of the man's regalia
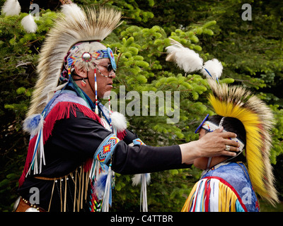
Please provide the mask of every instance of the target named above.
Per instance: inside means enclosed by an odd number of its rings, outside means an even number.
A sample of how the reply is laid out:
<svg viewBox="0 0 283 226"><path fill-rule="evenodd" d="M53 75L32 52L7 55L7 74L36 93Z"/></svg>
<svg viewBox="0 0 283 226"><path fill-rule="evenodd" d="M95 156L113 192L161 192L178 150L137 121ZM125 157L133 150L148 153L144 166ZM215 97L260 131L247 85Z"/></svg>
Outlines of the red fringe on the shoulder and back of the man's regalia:
<svg viewBox="0 0 283 226"><path fill-rule="evenodd" d="M49 114L47 114L47 117L45 118L45 123L43 125L43 144L46 143L50 135L52 134L52 130L54 128L54 124L56 121L60 119L69 119L70 112L71 114L76 117L76 110L79 112L82 112L85 117L91 118L93 120L100 121L100 117L96 113L94 113L91 109L88 107L85 107L83 105L74 103L74 102L58 102L57 105L55 105ZM37 136L34 136L28 145L28 154L25 160L25 167L23 169L23 174L21 175L21 178L18 181L19 186L23 185L23 182L25 181L25 176L28 173L28 169L30 167L30 162L33 159L33 152L35 148L35 142L36 142ZM91 168L91 160L88 160L86 163L85 171L88 171Z"/></svg>

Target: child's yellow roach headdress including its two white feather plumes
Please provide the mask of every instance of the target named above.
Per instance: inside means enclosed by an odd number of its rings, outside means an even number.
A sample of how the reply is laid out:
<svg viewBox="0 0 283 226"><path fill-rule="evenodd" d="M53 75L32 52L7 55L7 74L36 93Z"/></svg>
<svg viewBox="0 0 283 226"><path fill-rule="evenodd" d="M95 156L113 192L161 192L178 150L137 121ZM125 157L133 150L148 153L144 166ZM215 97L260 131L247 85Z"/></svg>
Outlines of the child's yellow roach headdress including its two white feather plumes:
<svg viewBox="0 0 283 226"><path fill-rule="evenodd" d="M278 197L270 164L271 130L274 123L271 109L246 88L219 84L218 78L223 67L218 60L212 59L202 65L199 54L175 40L172 40L171 44L166 48L166 60L174 61L185 72L201 71L207 76L212 88L208 100L214 112L222 117L236 118L243 123L246 130L246 160L250 180L255 191L274 205L278 202Z"/></svg>

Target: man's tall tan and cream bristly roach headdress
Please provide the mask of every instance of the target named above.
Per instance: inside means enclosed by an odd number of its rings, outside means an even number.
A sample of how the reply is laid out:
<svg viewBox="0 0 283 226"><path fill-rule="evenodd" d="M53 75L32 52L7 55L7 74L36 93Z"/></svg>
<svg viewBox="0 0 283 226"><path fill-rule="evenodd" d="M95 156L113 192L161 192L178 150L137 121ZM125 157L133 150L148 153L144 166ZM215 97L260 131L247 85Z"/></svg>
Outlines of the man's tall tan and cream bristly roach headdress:
<svg viewBox="0 0 283 226"><path fill-rule="evenodd" d="M76 4L64 4L54 27L47 33L39 54L38 80L27 118L40 114L58 87L64 57L78 42L104 40L120 25L121 13L112 8L83 8ZM93 42L98 49L103 44Z"/></svg>

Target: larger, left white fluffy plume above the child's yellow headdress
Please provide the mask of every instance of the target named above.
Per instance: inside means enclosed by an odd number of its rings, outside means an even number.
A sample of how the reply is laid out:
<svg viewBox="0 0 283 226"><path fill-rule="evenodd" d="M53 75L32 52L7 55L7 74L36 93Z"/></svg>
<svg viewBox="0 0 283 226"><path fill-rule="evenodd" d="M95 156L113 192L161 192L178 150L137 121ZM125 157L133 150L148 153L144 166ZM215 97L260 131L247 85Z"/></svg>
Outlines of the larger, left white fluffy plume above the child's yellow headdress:
<svg viewBox="0 0 283 226"><path fill-rule="evenodd" d="M175 62L186 73L202 69L203 60L200 55L179 42L171 39L171 46L166 47L166 50L166 61Z"/></svg>

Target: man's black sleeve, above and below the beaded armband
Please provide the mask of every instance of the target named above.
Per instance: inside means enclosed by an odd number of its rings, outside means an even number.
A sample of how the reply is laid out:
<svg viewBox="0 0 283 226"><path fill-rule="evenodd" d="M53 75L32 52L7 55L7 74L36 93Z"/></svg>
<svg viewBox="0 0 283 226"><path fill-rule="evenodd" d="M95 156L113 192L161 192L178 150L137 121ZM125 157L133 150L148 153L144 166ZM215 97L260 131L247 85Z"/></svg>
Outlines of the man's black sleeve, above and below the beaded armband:
<svg viewBox="0 0 283 226"><path fill-rule="evenodd" d="M98 121L84 117L77 112L77 117L58 121L52 134L52 143L59 145L69 153L78 153L93 157L98 146L110 135ZM182 156L178 145L152 147L149 145L129 146L137 134L126 131L125 141L117 143L112 154L112 169L120 174L157 172L166 169L186 167L182 165ZM109 164L109 162L108 162Z"/></svg>

